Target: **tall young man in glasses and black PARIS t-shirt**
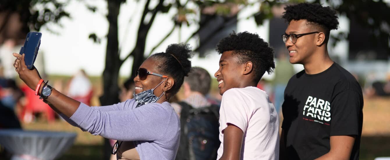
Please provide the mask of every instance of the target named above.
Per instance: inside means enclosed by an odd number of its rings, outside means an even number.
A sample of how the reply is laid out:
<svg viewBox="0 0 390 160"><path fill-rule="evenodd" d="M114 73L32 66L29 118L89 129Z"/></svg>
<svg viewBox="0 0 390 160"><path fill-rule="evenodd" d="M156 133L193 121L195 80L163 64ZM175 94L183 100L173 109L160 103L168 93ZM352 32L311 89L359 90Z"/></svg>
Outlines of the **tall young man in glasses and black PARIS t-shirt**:
<svg viewBox="0 0 390 160"><path fill-rule="evenodd" d="M305 69L285 89L280 159L358 160L362 89L327 50L330 30L339 25L336 12L301 3L285 7L283 18L289 60Z"/></svg>

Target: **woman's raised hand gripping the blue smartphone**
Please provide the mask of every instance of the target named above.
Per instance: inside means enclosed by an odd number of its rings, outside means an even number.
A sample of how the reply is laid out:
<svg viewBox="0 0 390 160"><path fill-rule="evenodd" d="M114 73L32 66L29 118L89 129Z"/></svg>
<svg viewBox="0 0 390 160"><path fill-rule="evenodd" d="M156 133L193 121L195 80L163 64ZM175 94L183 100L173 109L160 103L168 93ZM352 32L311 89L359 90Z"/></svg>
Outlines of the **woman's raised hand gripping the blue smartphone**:
<svg viewBox="0 0 390 160"><path fill-rule="evenodd" d="M14 67L16 72L19 74L19 78L27 84L28 87L35 90L39 80L41 80L41 76L38 73L38 70L33 67L31 70L27 68L25 64L25 54L22 55L18 53L12 53L14 57L16 57L14 62Z"/></svg>

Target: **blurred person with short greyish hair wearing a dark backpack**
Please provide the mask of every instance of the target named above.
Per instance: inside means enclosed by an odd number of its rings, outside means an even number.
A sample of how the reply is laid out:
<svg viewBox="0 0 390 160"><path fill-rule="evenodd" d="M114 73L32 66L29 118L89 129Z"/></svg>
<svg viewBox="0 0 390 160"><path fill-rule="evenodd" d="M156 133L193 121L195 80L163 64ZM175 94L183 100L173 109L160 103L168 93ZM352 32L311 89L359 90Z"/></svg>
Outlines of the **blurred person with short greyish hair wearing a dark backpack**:
<svg viewBox="0 0 390 160"><path fill-rule="evenodd" d="M176 160L216 159L220 146L219 105L212 104L206 98L210 85L210 74L200 67L191 68L188 77L184 78L184 100L177 103L179 107L175 108L181 123Z"/></svg>

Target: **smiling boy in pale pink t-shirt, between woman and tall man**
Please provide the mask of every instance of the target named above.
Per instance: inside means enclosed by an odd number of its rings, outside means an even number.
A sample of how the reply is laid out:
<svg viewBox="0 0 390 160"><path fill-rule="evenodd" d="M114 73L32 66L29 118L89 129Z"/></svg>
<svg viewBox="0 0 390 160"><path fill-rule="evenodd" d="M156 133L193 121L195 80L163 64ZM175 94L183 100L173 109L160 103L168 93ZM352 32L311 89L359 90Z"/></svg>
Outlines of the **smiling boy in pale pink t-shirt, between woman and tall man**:
<svg viewBox="0 0 390 160"><path fill-rule="evenodd" d="M256 87L275 68L273 49L257 34L233 32L216 50L222 54L215 73L222 95L217 159L278 160L278 114Z"/></svg>

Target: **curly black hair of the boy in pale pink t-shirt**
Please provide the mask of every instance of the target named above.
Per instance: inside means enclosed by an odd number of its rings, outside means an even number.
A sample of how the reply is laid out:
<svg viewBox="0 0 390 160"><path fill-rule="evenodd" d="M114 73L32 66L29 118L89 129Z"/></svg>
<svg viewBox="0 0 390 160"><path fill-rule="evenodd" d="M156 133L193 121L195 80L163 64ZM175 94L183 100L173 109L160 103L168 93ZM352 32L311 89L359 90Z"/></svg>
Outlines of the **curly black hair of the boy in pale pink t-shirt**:
<svg viewBox="0 0 390 160"><path fill-rule="evenodd" d="M252 62L254 68L254 81L259 82L267 71L268 74L275 69L273 61L274 51L257 34L249 32L233 32L228 37L221 39L216 51L222 54L225 51L234 51L238 64Z"/></svg>

